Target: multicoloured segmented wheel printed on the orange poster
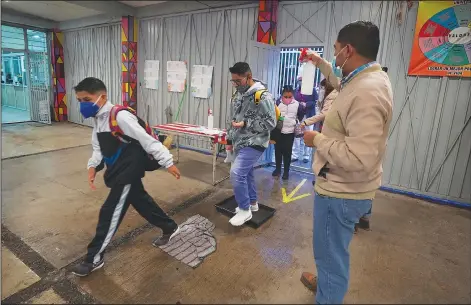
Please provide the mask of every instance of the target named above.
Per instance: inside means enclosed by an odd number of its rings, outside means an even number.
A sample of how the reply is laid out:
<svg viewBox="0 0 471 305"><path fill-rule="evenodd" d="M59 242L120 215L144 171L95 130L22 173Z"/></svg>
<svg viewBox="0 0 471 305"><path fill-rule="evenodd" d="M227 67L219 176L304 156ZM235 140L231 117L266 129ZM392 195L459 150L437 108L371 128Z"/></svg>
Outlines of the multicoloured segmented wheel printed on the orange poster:
<svg viewBox="0 0 471 305"><path fill-rule="evenodd" d="M428 59L439 64L471 64L470 19L471 2L436 13L420 29L420 50Z"/></svg>

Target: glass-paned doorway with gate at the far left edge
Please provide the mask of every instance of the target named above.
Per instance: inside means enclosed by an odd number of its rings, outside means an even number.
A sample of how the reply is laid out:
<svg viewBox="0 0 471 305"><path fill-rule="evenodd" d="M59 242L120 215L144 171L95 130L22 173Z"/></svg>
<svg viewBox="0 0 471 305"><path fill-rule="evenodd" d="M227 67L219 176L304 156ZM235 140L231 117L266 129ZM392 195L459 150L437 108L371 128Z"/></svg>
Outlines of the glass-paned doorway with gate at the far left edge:
<svg viewBox="0 0 471 305"><path fill-rule="evenodd" d="M2 123L51 123L46 32L2 24Z"/></svg>

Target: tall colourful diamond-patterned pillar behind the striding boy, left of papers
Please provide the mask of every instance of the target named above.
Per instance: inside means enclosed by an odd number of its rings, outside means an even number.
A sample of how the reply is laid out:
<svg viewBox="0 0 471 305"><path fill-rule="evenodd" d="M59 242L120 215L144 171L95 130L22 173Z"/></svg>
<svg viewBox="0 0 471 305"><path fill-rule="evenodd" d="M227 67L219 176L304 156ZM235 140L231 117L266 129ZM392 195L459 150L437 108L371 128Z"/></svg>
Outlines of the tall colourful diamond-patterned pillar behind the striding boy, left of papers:
<svg viewBox="0 0 471 305"><path fill-rule="evenodd" d="M123 105L137 110L137 20L121 19L121 71Z"/></svg>

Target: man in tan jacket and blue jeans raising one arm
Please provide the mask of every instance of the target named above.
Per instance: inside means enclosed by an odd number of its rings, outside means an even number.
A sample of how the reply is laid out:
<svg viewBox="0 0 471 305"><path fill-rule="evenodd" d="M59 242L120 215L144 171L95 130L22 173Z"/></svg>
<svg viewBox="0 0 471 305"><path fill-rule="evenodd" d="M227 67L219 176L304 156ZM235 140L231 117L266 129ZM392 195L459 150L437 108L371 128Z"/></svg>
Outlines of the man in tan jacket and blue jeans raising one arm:
<svg viewBox="0 0 471 305"><path fill-rule="evenodd" d="M378 27L357 21L340 30L332 64L315 52L309 55L339 91L322 133L304 134L306 145L316 147L313 246L317 280L307 272L301 280L316 287L317 304L343 302L355 223L370 210L381 185L393 95L388 75L376 63L379 43Z"/></svg>

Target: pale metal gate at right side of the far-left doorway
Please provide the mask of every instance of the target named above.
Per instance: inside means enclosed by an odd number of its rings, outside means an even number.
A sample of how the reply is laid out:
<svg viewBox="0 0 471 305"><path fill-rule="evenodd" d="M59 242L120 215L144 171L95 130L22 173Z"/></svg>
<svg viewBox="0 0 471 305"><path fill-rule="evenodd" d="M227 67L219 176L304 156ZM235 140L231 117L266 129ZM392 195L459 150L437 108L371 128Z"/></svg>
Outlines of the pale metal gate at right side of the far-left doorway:
<svg viewBox="0 0 471 305"><path fill-rule="evenodd" d="M30 103L32 121L51 124L49 55L44 52L29 52L28 71L30 81Z"/></svg>

